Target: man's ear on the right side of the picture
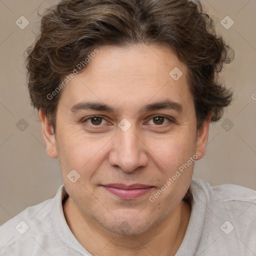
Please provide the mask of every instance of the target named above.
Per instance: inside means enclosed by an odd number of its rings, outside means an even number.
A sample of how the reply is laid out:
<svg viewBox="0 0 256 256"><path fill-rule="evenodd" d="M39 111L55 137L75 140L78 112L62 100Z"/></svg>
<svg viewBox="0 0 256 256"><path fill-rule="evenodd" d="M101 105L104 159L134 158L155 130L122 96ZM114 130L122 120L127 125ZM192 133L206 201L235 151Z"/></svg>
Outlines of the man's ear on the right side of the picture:
<svg viewBox="0 0 256 256"><path fill-rule="evenodd" d="M196 152L199 151L201 154L198 155L197 160L201 159L206 151L206 144L208 141L208 133L209 133L209 124L210 124L210 116L208 115L206 120L202 123L201 127L197 131L197 139L196 139Z"/></svg>

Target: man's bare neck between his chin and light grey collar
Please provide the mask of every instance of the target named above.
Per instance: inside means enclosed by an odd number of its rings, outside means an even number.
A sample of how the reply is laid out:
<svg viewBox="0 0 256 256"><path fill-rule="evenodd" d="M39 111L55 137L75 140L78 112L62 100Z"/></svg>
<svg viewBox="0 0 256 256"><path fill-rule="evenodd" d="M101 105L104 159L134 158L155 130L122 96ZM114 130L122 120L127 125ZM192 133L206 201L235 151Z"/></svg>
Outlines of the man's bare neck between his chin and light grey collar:
<svg viewBox="0 0 256 256"><path fill-rule="evenodd" d="M64 202L63 211L73 235L92 255L172 256L184 238L191 208L187 202L181 201L166 219L160 220L146 233L136 235L106 230L94 219L82 214L70 197Z"/></svg>

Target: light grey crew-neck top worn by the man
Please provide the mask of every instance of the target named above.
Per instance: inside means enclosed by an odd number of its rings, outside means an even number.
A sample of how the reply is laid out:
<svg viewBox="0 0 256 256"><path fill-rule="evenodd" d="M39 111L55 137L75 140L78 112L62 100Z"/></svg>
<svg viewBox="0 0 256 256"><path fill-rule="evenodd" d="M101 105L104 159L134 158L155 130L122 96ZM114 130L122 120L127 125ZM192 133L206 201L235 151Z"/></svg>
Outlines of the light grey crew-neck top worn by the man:
<svg viewBox="0 0 256 256"><path fill-rule="evenodd" d="M212 187L192 179L192 210L176 256L256 255L256 191L233 184ZM27 207L0 226L0 256L89 255L69 229L56 195Z"/></svg>

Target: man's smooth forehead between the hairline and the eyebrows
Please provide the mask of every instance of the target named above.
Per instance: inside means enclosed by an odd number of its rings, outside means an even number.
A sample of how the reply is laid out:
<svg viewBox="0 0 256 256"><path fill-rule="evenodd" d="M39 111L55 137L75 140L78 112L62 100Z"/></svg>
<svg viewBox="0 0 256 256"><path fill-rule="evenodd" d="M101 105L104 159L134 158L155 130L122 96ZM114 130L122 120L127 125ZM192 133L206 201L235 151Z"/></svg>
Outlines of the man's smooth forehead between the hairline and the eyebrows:
<svg viewBox="0 0 256 256"><path fill-rule="evenodd" d="M184 103L191 100L187 67L170 48L139 44L102 46L97 50L84 71L63 88L65 105L96 99L141 108L141 99L148 102L165 97Z"/></svg>

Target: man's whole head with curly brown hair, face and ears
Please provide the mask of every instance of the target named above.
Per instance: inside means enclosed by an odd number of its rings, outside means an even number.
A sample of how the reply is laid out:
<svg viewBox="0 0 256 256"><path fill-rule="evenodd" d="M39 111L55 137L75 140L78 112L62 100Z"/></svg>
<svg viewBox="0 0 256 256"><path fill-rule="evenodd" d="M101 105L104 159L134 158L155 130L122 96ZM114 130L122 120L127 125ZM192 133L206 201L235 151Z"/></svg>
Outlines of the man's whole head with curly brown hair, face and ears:
<svg viewBox="0 0 256 256"><path fill-rule="evenodd" d="M171 214L209 123L232 100L218 79L232 58L197 0L62 0L47 10L28 49L28 88L77 208L116 233ZM109 183L152 190L120 199Z"/></svg>

